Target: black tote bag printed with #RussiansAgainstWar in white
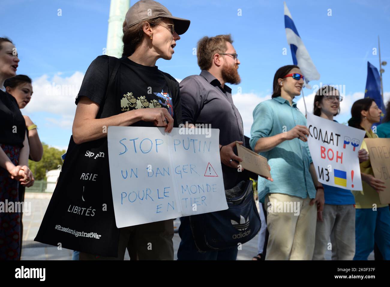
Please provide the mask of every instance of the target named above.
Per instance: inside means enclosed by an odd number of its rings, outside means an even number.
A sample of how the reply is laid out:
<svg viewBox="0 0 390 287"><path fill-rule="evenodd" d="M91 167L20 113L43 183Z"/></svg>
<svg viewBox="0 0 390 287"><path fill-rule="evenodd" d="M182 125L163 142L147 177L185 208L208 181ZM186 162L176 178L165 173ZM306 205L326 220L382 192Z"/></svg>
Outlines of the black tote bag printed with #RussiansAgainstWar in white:
<svg viewBox="0 0 390 287"><path fill-rule="evenodd" d="M115 96L120 62L109 57L105 101L108 94ZM97 118L110 116L101 105ZM106 137L75 144L71 136L57 186L34 240L117 257L119 229L115 225Z"/></svg>

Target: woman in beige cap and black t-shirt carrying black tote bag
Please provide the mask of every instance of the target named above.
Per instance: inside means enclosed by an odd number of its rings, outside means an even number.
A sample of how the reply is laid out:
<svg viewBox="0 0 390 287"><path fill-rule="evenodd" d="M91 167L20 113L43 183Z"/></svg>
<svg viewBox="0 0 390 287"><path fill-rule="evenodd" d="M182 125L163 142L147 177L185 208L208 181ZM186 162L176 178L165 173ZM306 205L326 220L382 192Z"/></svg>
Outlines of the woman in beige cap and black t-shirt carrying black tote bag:
<svg viewBox="0 0 390 287"><path fill-rule="evenodd" d="M126 248L131 260L173 260L173 220L117 229L108 157L88 158L84 154L78 156L80 153L70 155L69 151L73 152L75 146L81 146L84 153L88 149L108 154L107 133L102 132L104 126L158 126L170 132L181 124L179 83L169 74L161 72L156 61L159 58L172 58L179 35L186 32L189 25L189 20L173 17L166 7L150 0L135 3L126 13L122 58L99 56L85 73L76 98L73 139L69 143L57 183L58 194L60 191L68 194L72 190L83 191L83 198L77 197L80 198L79 202L68 201L68 205L74 204L82 210L92 206L92 209L95 208L94 221L89 221L90 216L87 218L85 214L77 214L78 220L83 221L63 221L66 215L62 216L56 211L61 207L61 200L58 199L56 205L52 199L53 204L51 202L52 206L49 205L46 211L36 241L48 244L61 242L64 248L79 250L80 260L123 260ZM112 62L115 64L112 65ZM115 67L112 69L112 66ZM110 70L113 72L110 73ZM92 172L96 180L80 179L82 172ZM56 191L53 198L55 196ZM102 197L107 198L104 202L106 211L101 211L98 206L101 202L97 200ZM69 199L64 197L63 201L66 200ZM53 226L56 226L55 230ZM67 235L69 231L63 232L62 227L103 235L98 241L82 236L75 238ZM152 248L148 248L149 243ZM117 257L107 255L113 253Z"/></svg>

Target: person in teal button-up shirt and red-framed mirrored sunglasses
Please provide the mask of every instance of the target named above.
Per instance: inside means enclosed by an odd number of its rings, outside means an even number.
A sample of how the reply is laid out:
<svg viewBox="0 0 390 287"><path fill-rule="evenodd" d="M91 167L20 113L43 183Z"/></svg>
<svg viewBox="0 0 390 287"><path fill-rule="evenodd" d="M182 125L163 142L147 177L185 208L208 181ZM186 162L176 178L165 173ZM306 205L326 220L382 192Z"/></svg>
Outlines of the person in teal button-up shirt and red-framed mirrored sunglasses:
<svg viewBox="0 0 390 287"><path fill-rule="evenodd" d="M323 186L307 144L306 118L293 101L301 94L303 80L298 66L279 68L272 99L259 103L253 112L250 146L268 159L274 180L258 181L259 199L267 210L266 260L311 260L317 210L324 206ZM296 206L298 212L279 212L275 204Z"/></svg>

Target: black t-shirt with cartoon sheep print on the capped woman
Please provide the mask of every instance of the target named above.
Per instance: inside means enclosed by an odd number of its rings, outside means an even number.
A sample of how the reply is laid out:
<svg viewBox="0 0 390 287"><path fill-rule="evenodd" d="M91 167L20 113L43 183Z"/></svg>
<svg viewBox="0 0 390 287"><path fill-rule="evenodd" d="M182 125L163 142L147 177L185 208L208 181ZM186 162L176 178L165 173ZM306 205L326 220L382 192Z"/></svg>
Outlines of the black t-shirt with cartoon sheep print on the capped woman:
<svg viewBox="0 0 390 287"><path fill-rule="evenodd" d="M110 115L144 108L167 108L174 118L174 127L181 124L181 102L179 97L179 83L165 73L176 84L176 95L171 95L168 84L162 72L155 67L137 64L127 57L120 59L118 73L115 77L113 89L115 94L108 93L108 56L97 57L85 73L80 91L76 98L76 105L81 96L88 97L100 106L105 105ZM153 122L138 121L132 126L154 127Z"/></svg>

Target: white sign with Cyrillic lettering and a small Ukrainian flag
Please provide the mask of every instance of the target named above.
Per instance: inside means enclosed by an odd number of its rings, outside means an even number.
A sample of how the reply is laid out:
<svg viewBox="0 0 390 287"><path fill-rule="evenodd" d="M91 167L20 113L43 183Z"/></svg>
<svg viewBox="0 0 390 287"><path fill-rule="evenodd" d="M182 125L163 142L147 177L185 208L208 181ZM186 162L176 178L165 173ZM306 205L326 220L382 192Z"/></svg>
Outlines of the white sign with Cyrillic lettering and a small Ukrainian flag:
<svg viewBox="0 0 390 287"><path fill-rule="evenodd" d="M362 190L358 151L365 131L307 114L307 142L319 182Z"/></svg>

